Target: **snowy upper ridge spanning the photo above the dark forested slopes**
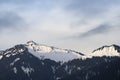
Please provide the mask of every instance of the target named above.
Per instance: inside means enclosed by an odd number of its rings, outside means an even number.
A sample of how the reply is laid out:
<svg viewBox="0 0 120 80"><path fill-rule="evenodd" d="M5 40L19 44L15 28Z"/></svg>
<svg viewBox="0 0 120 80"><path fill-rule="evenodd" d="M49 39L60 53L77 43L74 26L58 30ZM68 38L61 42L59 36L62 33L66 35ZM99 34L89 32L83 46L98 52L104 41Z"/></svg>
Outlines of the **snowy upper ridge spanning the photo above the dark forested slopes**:
<svg viewBox="0 0 120 80"><path fill-rule="evenodd" d="M13 50L15 49L16 51L18 51L16 53L20 53L20 52L27 50L28 52L32 53L32 55L34 55L35 57L37 57L39 59L51 59L51 60L54 60L57 62L59 62L59 61L67 62L72 59L86 59L86 58L102 57L102 56L110 56L110 57L118 56L118 57L120 57L120 46L118 46L116 44L112 44L110 46L108 46L108 45L102 46L88 54L83 54L81 52L71 50L71 49L62 49L62 48L57 48L57 47L53 47L53 46L47 46L44 44L38 44L34 41L28 41L26 44L15 45L14 47L6 49L5 51L9 52L12 49ZM14 51L13 51L13 53L14 53ZM0 51L0 55L3 52L4 51ZM9 56L10 56L10 54L9 54ZM59 59L56 59L55 56L56 56L56 58L59 58ZM71 59L67 59L69 57ZM0 59L1 58L2 58L2 56L0 56Z"/></svg>

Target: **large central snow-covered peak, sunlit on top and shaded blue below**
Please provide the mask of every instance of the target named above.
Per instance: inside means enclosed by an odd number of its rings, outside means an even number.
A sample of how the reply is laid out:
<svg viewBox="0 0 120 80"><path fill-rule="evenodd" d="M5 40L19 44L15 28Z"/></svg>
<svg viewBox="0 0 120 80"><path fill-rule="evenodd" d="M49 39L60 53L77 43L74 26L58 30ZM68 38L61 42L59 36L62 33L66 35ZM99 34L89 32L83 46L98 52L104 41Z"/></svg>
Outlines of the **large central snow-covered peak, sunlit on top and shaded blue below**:
<svg viewBox="0 0 120 80"><path fill-rule="evenodd" d="M53 46L46 46L43 44L37 44L34 41L29 41L25 46L28 51L39 59L51 59L57 62L66 62L73 59L78 59L83 56L83 54L76 52L74 50L61 49Z"/></svg>

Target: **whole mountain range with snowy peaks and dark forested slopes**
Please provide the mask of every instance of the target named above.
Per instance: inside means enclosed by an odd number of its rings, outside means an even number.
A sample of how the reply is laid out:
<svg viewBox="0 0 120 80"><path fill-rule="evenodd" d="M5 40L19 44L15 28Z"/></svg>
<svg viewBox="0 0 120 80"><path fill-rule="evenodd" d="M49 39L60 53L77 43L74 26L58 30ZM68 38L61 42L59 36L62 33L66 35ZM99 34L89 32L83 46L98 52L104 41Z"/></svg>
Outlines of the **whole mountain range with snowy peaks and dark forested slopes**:
<svg viewBox="0 0 120 80"><path fill-rule="evenodd" d="M83 54L28 41L0 51L0 80L120 80L120 46Z"/></svg>

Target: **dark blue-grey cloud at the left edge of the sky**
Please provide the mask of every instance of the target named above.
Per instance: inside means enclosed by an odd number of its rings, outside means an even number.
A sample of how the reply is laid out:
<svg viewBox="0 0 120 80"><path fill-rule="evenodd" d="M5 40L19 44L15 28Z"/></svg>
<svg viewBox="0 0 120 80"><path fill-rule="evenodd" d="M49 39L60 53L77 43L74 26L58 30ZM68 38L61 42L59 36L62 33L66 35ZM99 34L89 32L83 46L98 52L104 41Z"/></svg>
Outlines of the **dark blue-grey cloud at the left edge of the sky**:
<svg viewBox="0 0 120 80"><path fill-rule="evenodd" d="M0 30L18 29L24 26L24 20L17 13L9 11L0 12Z"/></svg>

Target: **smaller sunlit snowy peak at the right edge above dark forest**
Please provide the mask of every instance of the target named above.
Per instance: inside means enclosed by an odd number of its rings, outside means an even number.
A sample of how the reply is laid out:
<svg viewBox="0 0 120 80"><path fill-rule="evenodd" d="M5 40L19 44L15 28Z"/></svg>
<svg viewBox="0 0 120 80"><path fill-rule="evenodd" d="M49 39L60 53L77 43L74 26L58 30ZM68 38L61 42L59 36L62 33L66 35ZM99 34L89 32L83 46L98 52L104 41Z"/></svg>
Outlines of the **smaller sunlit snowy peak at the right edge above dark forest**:
<svg viewBox="0 0 120 80"><path fill-rule="evenodd" d="M113 44L110 46L103 46L96 50L94 50L92 53L87 54L86 57L102 57L102 56L120 56L120 47Z"/></svg>

